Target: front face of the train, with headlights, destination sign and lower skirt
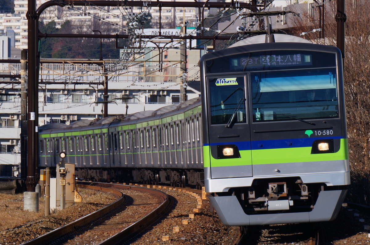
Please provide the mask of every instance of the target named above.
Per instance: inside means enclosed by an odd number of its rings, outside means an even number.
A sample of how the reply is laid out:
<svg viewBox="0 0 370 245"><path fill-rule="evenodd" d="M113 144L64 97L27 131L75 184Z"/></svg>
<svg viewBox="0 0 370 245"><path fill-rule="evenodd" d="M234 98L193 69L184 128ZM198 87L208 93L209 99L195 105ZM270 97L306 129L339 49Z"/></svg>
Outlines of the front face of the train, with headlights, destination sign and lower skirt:
<svg viewBox="0 0 370 245"><path fill-rule="evenodd" d="M350 184L341 53L279 38L200 61L205 186L225 225L333 220Z"/></svg>

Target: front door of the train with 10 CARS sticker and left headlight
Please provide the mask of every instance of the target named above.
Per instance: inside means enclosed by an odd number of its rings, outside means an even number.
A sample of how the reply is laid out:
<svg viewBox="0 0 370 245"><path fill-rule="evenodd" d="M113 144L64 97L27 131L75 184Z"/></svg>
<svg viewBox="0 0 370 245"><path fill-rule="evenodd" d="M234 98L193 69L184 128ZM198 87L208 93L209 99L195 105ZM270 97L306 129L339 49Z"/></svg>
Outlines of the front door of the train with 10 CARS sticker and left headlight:
<svg viewBox="0 0 370 245"><path fill-rule="evenodd" d="M246 81L244 75L208 78L211 178L252 176Z"/></svg>

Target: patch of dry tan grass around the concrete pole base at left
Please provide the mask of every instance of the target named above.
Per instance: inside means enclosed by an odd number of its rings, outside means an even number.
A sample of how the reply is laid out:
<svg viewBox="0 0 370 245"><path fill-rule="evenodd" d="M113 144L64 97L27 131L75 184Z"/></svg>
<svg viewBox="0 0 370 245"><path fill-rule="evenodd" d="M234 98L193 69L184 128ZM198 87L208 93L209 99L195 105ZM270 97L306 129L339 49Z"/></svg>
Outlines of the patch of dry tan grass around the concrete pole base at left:
<svg viewBox="0 0 370 245"><path fill-rule="evenodd" d="M0 231L18 227L44 216L45 202L39 198L39 212L23 210L23 193L17 195L0 194Z"/></svg>

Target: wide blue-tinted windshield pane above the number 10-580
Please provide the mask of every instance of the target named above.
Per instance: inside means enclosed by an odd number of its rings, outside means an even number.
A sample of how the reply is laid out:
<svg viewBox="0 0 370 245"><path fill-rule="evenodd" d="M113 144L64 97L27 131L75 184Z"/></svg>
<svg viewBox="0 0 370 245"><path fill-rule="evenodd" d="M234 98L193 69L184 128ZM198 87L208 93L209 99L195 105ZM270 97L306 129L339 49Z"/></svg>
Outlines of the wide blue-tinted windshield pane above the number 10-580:
<svg viewBox="0 0 370 245"><path fill-rule="evenodd" d="M337 118L334 68L251 73L253 122Z"/></svg>

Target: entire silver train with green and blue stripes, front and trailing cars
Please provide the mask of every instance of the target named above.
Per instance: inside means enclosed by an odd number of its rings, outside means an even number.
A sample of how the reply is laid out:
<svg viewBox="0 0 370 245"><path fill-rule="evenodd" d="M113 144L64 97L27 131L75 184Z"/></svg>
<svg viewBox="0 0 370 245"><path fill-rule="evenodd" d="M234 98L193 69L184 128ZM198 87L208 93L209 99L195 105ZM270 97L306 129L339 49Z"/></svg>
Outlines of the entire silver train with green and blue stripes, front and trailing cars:
<svg viewBox="0 0 370 245"><path fill-rule="evenodd" d="M342 54L284 34L199 61L201 97L129 116L39 128L83 179L205 186L225 225L334 220L350 185Z"/></svg>

